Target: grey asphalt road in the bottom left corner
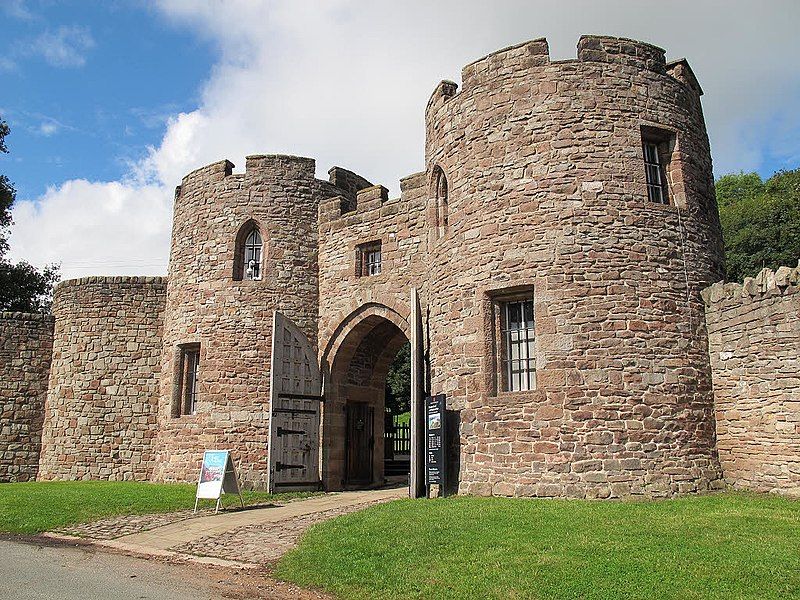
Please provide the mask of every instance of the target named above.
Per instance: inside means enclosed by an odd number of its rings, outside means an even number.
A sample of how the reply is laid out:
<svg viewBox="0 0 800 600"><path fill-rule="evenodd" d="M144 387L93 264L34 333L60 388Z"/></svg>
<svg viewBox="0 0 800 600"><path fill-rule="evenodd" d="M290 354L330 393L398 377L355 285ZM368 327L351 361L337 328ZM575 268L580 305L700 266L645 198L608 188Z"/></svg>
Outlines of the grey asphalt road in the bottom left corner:
<svg viewBox="0 0 800 600"><path fill-rule="evenodd" d="M191 565L0 540L3 600L206 600L223 598L213 577Z"/></svg>

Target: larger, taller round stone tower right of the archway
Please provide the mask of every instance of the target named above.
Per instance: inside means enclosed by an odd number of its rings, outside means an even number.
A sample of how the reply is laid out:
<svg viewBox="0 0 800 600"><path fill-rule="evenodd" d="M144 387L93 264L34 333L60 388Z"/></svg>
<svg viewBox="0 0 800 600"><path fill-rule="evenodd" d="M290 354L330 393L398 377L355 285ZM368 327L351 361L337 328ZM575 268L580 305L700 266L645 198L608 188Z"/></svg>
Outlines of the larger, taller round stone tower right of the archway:
<svg viewBox="0 0 800 600"><path fill-rule="evenodd" d="M701 90L616 38L547 42L443 82L426 166L447 177L429 248L432 391L461 413L460 490L666 496L720 477L703 304L722 244ZM674 133L670 205L648 201L643 127ZM497 307L532 294L536 386L498 383Z"/></svg>

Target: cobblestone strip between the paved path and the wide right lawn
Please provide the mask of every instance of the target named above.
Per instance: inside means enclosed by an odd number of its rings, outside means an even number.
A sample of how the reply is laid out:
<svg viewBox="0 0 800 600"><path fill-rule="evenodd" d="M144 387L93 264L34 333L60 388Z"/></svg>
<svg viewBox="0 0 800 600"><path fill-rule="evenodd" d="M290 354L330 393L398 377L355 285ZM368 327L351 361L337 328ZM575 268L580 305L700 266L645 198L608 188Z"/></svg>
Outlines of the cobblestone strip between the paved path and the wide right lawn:
<svg viewBox="0 0 800 600"><path fill-rule="evenodd" d="M180 544L170 550L240 562L268 563L294 548L312 525L391 500L393 498L334 508L264 525L245 525L220 535Z"/></svg>

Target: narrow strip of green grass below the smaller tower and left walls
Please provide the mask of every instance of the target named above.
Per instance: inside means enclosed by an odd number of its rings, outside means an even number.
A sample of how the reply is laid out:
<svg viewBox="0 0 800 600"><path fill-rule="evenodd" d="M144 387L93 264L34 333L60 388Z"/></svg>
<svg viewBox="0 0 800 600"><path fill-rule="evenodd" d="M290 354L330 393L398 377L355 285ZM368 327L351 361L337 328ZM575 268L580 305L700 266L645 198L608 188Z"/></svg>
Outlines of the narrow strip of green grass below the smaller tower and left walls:
<svg viewBox="0 0 800 600"><path fill-rule="evenodd" d="M40 481L0 484L0 532L41 533L114 515L141 515L194 507L196 487L128 481ZM303 497L308 493L268 494L243 491L245 504ZM201 500L200 506L212 506ZM225 495L223 506L239 505Z"/></svg>

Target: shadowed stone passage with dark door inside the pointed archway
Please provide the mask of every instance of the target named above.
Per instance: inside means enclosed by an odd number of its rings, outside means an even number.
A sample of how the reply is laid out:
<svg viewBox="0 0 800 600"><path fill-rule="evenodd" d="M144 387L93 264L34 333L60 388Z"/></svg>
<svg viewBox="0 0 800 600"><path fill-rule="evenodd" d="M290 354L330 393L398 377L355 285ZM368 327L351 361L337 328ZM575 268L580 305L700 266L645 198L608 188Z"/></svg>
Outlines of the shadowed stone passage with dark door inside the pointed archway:
<svg viewBox="0 0 800 600"><path fill-rule="evenodd" d="M336 350L323 417L326 489L382 485L387 465L389 475L408 474L407 455L395 455L393 448L385 446L386 378L408 343L408 336L395 323L370 315L345 335Z"/></svg>

